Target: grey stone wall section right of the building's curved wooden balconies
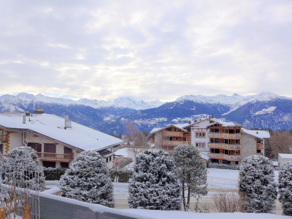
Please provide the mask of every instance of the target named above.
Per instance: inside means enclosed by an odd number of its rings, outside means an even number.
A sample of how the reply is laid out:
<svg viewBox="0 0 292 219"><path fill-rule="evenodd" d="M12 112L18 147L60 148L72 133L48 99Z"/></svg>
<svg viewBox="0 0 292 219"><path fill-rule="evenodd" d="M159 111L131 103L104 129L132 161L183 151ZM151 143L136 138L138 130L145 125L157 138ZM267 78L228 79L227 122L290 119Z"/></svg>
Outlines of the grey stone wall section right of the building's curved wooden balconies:
<svg viewBox="0 0 292 219"><path fill-rule="evenodd" d="M256 151L257 151L256 138L252 135L241 133L241 161L245 157L256 155L257 154Z"/></svg>

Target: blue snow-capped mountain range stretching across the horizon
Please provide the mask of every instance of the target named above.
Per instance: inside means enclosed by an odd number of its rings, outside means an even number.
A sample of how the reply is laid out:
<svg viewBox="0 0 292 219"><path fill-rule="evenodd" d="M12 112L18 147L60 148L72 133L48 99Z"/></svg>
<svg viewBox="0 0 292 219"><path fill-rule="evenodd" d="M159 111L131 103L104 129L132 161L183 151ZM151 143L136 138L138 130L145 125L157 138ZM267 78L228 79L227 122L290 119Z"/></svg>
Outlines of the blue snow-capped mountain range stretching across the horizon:
<svg viewBox="0 0 292 219"><path fill-rule="evenodd" d="M211 114L226 121L238 121L245 128L292 128L292 98L270 92L248 96L185 95L166 103L131 98L76 101L28 93L0 96L0 112L32 112L35 107L44 108L45 113L69 116L72 121L110 134L124 133L129 121L141 131L150 131L153 127L185 123Z"/></svg>

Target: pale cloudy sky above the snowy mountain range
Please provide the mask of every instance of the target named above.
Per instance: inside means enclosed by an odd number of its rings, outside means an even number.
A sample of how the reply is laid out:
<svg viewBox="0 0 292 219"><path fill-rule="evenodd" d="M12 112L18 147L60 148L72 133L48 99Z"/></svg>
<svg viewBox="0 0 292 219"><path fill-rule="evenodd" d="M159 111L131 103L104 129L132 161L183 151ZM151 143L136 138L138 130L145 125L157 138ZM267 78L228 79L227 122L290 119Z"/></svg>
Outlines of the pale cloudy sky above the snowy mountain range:
<svg viewBox="0 0 292 219"><path fill-rule="evenodd" d="M0 0L0 94L291 97L291 11L291 0Z"/></svg>

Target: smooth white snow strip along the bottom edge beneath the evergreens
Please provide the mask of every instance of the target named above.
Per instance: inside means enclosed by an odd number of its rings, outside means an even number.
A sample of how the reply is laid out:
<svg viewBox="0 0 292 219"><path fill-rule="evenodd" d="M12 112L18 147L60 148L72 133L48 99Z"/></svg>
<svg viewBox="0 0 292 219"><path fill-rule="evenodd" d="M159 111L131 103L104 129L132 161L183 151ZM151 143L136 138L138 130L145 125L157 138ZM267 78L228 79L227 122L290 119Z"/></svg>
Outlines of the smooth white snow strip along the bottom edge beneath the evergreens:
<svg viewBox="0 0 292 219"><path fill-rule="evenodd" d="M185 211L159 211L159 210L145 210L145 209L123 209L122 211L136 213L141 215L151 216L159 219L177 219L177 218L189 218L189 219L284 219L290 218L290 216L275 215L275 214L256 214L256 213L193 213Z"/></svg>

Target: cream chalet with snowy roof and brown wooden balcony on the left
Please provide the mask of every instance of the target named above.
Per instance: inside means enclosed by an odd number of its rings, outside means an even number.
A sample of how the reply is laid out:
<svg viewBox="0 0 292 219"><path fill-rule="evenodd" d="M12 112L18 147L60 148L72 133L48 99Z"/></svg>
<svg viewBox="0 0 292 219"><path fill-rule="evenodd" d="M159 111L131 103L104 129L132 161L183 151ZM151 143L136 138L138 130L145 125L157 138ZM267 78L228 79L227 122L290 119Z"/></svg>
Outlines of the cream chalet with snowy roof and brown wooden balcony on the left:
<svg viewBox="0 0 292 219"><path fill-rule="evenodd" d="M111 149L124 143L123 140L53 114L0 114L0 152L4 155L15 147L28 146L37 151L41 165L68 168L70 162L84 150L97 151L109 168L123 159Z"/></svg>

